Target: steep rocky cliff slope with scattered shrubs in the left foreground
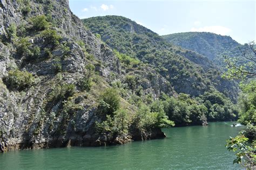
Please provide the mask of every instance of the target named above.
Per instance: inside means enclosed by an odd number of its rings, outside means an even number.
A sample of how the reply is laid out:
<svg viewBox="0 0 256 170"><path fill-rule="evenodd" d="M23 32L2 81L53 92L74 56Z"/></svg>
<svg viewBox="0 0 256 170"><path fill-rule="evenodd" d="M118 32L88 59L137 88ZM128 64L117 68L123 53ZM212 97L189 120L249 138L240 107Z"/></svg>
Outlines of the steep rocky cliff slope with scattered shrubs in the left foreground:
<svg viewBox="0 0 256 170"><path fill-rule="evenodd" d="M112 112L120 105L125 110L120 112L132 118L138 110L129 101L135 89L141 97L151 98L175 91L152 68L120 62L109 46L84 29L68 0L1 1L0 36L0 140L4 150L100 146L164 137L159 126L139 129L134 122L127 131L125 126L122 135L120 131L98 132L97 122L118 119L107 118L114 104L107 97L120 101ZM132 89L129 74L137 79Z"/></svg>

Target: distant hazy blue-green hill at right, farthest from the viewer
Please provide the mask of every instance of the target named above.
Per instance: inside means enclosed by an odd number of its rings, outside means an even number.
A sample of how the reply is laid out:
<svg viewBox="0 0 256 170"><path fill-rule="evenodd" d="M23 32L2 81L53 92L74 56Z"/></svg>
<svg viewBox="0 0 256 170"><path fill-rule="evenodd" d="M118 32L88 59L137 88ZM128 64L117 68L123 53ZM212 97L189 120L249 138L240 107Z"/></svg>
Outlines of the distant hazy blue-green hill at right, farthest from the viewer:
<svg viewBox="0 0 256 170"><path fill-rule="evenodd" d="M168 42L191 49L214 61L223 54L240 55L238 47L242 47L230 36L221 36L210 32L183 32L162 36Z"/></svg>

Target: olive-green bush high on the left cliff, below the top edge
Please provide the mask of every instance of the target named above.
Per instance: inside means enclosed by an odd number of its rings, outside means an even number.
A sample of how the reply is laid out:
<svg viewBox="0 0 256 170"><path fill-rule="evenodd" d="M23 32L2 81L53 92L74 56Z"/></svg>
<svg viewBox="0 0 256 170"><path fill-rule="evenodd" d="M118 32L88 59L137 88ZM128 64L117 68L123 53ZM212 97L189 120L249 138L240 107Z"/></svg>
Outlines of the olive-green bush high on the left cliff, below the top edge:
<svg viewBox="0 0 256 170"><path fill-rule="evenodd" d="M50 23L46 21L46 17L44 15L36 16L31 18L32 29L36 31L42 31L49 29Z"/></svg>

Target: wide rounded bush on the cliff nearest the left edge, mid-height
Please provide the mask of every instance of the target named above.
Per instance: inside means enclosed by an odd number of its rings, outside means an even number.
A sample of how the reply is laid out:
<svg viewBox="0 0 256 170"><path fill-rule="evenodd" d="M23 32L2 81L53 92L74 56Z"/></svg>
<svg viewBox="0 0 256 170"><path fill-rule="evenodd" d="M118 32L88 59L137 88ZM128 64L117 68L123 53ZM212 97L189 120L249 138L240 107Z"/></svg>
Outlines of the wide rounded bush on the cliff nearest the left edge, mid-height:
<svg viewBox="0 0 256 170"><path fill-rule="evenodd" d="M24 90L35 83L35 78L29 72L22 72L18 69L10 70L8 76L4 77L6 86L11 90Z"/></svg>

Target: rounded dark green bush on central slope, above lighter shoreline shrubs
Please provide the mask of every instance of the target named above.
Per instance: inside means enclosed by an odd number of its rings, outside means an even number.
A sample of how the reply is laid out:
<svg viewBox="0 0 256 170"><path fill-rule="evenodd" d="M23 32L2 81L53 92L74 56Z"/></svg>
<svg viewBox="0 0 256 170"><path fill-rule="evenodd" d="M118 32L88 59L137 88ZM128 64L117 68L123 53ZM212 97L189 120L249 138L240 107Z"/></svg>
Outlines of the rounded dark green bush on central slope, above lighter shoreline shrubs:
<svg viewBox="0 0 256 170"><path fill-rule="evenodd" d="M101 115L113 115L120 107L120 97L114 88L107 88L99 97L99 112Z"/></svg>

